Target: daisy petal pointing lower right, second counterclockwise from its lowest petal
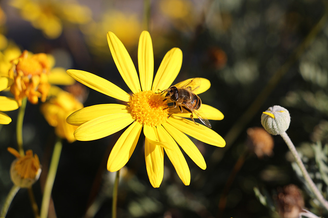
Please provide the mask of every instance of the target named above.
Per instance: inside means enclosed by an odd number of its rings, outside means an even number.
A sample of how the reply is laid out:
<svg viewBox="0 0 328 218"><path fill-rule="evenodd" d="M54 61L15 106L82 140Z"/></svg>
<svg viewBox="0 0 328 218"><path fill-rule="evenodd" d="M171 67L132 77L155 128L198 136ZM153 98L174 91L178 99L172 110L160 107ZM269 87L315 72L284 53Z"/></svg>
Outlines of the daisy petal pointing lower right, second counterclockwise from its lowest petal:
<svg viewBox="0 0 328 218"><path fill-rule="evenodd" d="M186 154L201 168L206 169L206 162L190 138L168 123L162 124Z"/></svg>

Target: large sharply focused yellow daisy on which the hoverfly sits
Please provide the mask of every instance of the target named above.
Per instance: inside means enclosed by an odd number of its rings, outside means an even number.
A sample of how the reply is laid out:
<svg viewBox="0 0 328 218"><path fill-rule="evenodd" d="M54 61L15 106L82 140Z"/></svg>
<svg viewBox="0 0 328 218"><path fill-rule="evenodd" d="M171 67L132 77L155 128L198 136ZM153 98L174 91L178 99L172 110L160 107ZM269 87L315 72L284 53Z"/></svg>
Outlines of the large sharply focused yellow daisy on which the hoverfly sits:
<svg viewBox="0 0 328 218"><path fill-rule="evenodd" d="M79 126L74 132L75 138L81 141L95 140L128 127L115 143L108 158L107 169L115 172L128 162L143 129L146 168L153 187L159 187L163 179L164 151L182 182L189 185L190 170L179 146L200 168L205 169L206 162L187 135L217 147L224 147L226 142L208 127L180 117L185 116L183 113L169 115L167 101L163 101L165 96L158 93L159 90L169 88L178 75L182 64L181 50L173 48L165 55L153 81L152 40L147 31L142 32L138 46L139 82L137 71L122 42L112 32L108 32L107 40L117 69L133 94L128 94L113 83L90 72L67 70L67 73L78 82L127 103L94 105L71 114L67 122ZM202 81L203 86L197 89L195 94L210 87L208 80ZM207 118L223 118L219 110L208 105L201 107Z"/></svg>

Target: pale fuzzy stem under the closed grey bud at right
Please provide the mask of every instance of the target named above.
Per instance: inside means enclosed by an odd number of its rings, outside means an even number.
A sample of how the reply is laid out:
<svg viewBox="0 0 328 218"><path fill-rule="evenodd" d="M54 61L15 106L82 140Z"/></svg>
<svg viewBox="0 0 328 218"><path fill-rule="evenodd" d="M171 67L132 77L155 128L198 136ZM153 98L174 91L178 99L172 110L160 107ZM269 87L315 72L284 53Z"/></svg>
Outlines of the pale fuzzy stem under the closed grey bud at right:
<svg viewBox="0 0 328 218"><path fill-rule="evenodd" d="M290 137L287 135L286 132L283 132L280 134L280 136L283 138L283 140L286 142L288 148L291 150L295 161L297 163L297 165L300 167L301 172L304 176L305 181L309 184L311 191L314 193L314 195L317 197L317 200L324 206L324 208L328 211L328 202L323 198L323 196L321 195L320 191L318 190L317 186L314 184L314 182L312 181L308 171L306 171L305 166L301 160L301 158L299 157L296 148L292 142L292 140L290 139Z"/></svg>

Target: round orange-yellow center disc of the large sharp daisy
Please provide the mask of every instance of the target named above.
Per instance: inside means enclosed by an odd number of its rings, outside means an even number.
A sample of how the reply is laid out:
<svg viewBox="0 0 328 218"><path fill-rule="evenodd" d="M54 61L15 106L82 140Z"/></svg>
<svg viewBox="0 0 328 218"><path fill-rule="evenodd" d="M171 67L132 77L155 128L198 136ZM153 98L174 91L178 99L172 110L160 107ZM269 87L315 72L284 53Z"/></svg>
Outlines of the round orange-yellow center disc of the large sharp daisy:
<svg viewBox="0 0 328 218"><path fill-rule="evenodd" d="M164 97L153 91L140 91L131 96L128 103L132 117L151 127L164 123L168 117L168 104Z"/></svg>

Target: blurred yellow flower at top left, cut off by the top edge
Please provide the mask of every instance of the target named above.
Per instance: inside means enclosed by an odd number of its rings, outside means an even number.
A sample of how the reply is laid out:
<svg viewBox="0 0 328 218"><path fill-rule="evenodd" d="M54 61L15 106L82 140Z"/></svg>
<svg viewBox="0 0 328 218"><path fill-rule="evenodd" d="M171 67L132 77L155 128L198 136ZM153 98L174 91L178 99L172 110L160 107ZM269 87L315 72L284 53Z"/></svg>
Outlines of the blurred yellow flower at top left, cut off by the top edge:
<svg viewBox="0 0 328 218"><path fill-rule="evenodd" d="M75 0L11 0L9 4L19 9L24 19L50 39L61 34L66 22L85 24L92 15L87 6L81 6Z"/></svg>

